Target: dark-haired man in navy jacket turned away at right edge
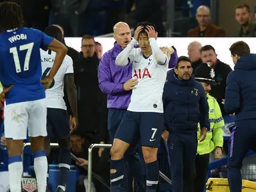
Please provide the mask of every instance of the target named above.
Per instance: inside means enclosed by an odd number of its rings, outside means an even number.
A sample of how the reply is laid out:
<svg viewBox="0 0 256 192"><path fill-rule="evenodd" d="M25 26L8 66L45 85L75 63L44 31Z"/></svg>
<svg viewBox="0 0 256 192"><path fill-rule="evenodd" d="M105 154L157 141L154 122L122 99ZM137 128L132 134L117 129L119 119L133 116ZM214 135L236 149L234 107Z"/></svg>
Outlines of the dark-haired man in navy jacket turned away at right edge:
<svg viewBox="0 0 256 192"><path fill-rule="evenodd" d="M231 192L241 192L241 167L249 149L256 151L256 55L244 41L234 43L231 55L235 70L227 77L225 111L235 113L229 143L228 179Z"/></svg>

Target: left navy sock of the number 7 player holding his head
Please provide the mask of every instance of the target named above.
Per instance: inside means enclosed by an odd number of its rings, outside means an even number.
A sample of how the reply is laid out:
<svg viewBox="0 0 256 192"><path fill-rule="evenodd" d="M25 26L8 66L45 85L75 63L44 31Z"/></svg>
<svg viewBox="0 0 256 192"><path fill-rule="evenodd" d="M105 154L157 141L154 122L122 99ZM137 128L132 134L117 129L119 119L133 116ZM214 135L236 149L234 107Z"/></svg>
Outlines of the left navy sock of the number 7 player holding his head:
<svg viewBox="0 0 256 192"><path fill-rule="evenodd" d="M110 160L110 191L125 192L126 178L125 177L124 159Z"/></svg>

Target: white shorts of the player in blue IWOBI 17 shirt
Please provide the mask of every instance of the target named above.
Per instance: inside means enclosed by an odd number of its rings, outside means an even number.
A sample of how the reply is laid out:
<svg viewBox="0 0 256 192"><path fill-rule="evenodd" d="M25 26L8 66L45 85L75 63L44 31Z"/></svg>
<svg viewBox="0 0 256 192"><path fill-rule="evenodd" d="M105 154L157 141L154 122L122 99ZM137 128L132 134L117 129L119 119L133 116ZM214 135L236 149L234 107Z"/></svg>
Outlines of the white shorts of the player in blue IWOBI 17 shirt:
<svg viewBox="0 0 256 192"><path fill-rule="evenodd" d="M45 99L5 105L5 138L27 139L47 136Z"/></svg>

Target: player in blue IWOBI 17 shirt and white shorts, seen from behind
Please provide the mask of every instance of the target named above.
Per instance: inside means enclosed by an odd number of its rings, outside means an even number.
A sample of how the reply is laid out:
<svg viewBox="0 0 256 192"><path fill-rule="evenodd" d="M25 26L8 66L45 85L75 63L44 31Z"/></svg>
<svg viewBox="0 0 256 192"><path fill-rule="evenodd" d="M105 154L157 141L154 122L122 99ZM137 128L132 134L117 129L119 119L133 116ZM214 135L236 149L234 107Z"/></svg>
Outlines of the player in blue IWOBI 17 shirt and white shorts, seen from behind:
<svg viewBox="0 0 256 192"><path fill-rule="evenodd" d="M67 48L59 41L35 29L23 28L21 7L0 4L0 80L3 87L14 85L5 94L5 137L9 155L11 192L21 191L23 166L21 153L27 128L34 158L37 191L45 192L47 159L44 149L47 108L45 89L53 82ZM40 48L56 52L53 67L41 82Z"/></svg>

